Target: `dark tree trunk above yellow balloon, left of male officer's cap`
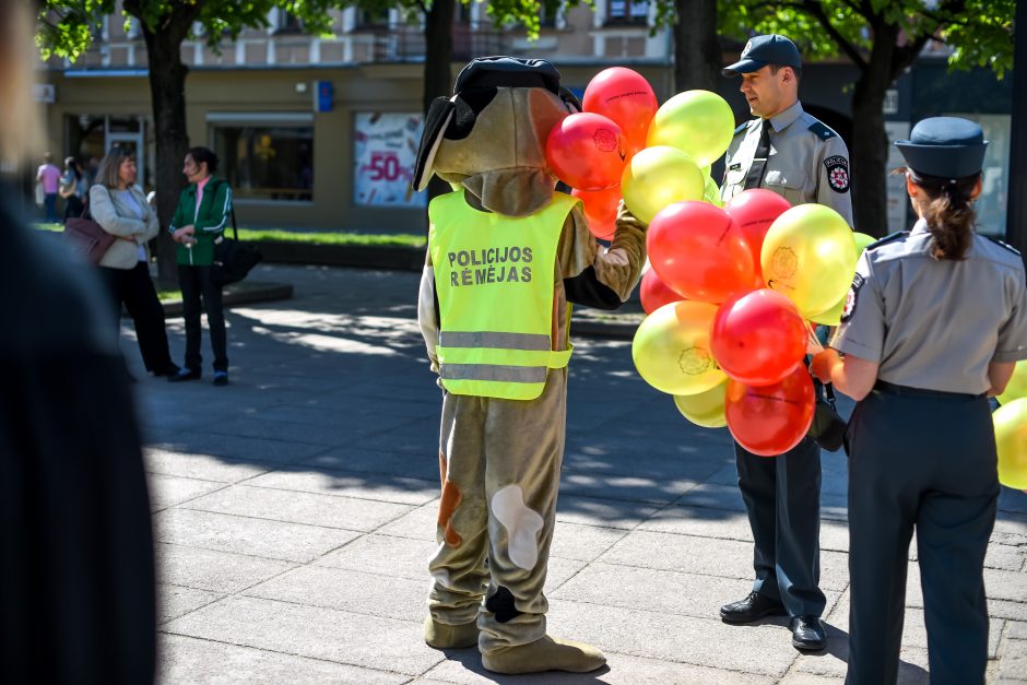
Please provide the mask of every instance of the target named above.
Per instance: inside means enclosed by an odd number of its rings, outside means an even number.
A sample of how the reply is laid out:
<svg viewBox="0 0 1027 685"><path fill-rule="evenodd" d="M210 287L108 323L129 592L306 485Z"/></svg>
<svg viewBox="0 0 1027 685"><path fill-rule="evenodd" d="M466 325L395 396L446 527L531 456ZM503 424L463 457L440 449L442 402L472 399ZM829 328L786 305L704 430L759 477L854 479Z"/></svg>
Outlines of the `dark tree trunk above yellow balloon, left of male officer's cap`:
<svg viewBox="0 0 1027 685"><path fill-rule="evenodd" d="M717 0L675 0L674 88L716 93L720 85Z"/></svg>

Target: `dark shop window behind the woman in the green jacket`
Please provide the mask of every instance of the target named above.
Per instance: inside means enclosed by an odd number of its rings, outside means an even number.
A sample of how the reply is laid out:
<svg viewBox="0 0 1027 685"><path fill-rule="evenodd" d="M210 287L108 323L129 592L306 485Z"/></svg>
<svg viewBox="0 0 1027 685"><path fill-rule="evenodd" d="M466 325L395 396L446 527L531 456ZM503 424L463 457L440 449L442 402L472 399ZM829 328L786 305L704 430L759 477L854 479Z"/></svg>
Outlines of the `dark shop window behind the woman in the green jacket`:
<svg viewBox="0 0 1027 685"><path fill-rule="evenodd" d="M237 200L314 200L314 126L215 122L219 175Z"/></svg>

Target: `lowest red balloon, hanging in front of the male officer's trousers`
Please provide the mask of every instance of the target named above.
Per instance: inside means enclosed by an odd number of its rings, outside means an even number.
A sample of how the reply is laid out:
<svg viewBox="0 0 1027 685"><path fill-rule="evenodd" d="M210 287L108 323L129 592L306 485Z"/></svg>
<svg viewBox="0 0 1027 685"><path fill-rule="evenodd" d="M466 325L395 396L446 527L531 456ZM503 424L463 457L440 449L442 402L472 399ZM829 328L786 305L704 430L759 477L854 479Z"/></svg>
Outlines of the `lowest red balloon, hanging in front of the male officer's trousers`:
<svg viewBox="0 0 1027 685"><path fill-rule="evenodd" d="M777 457L799 445L813 423L813 380L805 368L762 388L728 380L728 428L754 454Z"/></svg>

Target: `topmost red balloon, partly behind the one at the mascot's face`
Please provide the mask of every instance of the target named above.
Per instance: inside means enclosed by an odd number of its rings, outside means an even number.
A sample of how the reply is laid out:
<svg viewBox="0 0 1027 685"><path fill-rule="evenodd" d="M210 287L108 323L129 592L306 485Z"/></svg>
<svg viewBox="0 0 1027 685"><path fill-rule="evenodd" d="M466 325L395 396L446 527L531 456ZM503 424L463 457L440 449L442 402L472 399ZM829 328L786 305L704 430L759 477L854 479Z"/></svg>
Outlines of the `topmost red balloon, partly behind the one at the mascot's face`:
<svg viewBox="0 0 1027 685"><path fill-rule="evenodd" d="M640 73L624 67L611 67L589 81L581 107L585 111L609 117L619 126L630 156L646 146L649 125L660 103Z"/></svg>

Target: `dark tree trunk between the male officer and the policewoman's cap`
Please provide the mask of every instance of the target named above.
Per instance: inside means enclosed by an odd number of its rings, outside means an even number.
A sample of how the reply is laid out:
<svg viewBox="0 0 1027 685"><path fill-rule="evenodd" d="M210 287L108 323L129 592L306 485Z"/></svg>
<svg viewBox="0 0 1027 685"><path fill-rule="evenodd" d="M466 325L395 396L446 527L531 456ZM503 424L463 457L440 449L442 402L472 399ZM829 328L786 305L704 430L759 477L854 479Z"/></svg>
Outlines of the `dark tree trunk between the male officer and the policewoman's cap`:
<svg viewBox="0 0 1027 685"><path fill-rule="evenodd" d="M888 137L884 128L885 92L894 83L892 73L898 29L874 27L874 47L852 92L852 215L860 233L883 236L887 220Z"/></svg>

